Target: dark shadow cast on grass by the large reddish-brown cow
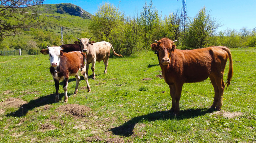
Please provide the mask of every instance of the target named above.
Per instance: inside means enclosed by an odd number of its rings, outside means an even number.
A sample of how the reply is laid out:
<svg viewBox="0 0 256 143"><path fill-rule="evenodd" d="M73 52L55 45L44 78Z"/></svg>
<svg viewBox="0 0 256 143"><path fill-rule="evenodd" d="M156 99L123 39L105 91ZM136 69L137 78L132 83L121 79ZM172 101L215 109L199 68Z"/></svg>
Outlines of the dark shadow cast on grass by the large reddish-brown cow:
<svg viewBox="0 0 256 143"><path fill-rule="evenodd" d="M125 122L123 125L112 128L108 131L112 131L114 135L122 135L122 136L128 137L133 135L133 129L135 125L142 120L147 120L147 121L164 120L164 119L182 120L182 119L189 119L189 118L202 116L207 113L212 113L213 111L214 111L213 109L209 109L209 108L181 110L180 115L176 117L172 115L173 112L159 111L159 112L149 113L147 115L135 117Z"/></svg>

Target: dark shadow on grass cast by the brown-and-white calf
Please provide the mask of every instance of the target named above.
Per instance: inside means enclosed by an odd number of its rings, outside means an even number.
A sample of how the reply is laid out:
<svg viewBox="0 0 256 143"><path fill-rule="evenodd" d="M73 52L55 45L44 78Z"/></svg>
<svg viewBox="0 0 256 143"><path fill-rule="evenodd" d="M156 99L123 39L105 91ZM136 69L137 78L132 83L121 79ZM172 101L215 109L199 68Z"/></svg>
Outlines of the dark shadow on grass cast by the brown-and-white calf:
<svg viewBox="0 0 256 143"><path fill-rule="evenodd" d="M64 93L59 93L59 100L64 97ZM39 97L35 100L31 100L29 103L23 104L17 111L7 114L6 116L12 117L22 117L26 116L26 114L33 110L36 107L44 106L47 104L55 103L55 93Z"/></svg>

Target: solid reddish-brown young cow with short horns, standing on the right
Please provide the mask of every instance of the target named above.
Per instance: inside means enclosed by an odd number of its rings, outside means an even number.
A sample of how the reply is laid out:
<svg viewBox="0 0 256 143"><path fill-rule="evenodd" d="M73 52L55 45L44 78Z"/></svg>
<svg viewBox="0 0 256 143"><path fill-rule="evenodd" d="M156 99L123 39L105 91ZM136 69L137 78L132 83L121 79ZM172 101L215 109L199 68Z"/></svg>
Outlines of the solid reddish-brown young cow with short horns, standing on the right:
<svg viewBox="0 0 256 143"><path fill-rule="evenodd" d="M156 41L156 40L155 40ZM179 50L172 40L162 38L150 45L159 52L160 67L165 82L170 87L174 115L180 111L181 90L184 83L200 82L210 77L214 88L214 100L211 106L221 110L225 84L224 69L229 58L229 71L226 87L229 86L232 75L232 56L224 46L211 46L195 50Z"/></svg>

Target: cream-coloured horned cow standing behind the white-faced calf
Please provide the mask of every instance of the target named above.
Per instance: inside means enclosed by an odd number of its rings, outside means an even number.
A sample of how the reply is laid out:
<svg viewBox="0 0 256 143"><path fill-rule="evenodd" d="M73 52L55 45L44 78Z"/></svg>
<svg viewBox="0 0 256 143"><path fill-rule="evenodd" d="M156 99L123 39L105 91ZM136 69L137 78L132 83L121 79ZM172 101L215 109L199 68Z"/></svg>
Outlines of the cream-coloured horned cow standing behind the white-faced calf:
<svg viewBox="0 0 256 143"><path fill-rule="evenodd" d="M79 39L77 38L79 41L77 42L77 44L81 45L81 51L86 53L87 56L87 64L86 64L86 73L88 75L88 69L89 69L89 64L92 63L92 71L93 71L93 79L95 79L95 62L100 62L101 60L103 60L104 64L105 64L105 71L104 73L107 73L107 68L108 68L108 59L109 59L109 55L110 55L110 49L112 48L114 55L115 56L122 56L119 55L115 52L115 50L113 49L113 46L111 43L106 42L106 41L101 41L101 42L94 42L94 41L89 41L90 39L87 38L82 38Z"/></svg>

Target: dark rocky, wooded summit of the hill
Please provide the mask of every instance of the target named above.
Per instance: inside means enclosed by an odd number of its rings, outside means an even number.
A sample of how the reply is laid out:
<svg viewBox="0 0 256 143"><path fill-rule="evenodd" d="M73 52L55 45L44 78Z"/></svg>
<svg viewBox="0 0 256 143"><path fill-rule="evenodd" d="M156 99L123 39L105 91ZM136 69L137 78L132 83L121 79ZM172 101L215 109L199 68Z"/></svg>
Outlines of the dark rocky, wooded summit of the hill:
<svg viewBox="0 0 256 143"><path fill-rule="evenodd" d="M61 4L44 4L41 7L45 8L44 13L61 13L61 14L69 14L69 15L74 15L74 16L79 16L81 18L85 19L91 19L92 14L85 11L83 8L78 7L74 4L71 3L61 3ZM48 9L46 9L48 8ZM53 11L52 9L56 9Z"/></svg>

